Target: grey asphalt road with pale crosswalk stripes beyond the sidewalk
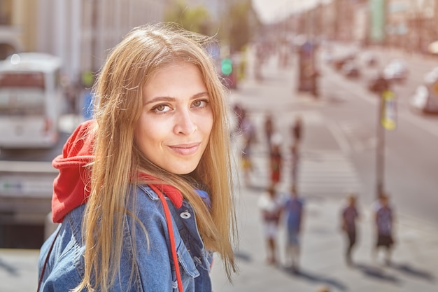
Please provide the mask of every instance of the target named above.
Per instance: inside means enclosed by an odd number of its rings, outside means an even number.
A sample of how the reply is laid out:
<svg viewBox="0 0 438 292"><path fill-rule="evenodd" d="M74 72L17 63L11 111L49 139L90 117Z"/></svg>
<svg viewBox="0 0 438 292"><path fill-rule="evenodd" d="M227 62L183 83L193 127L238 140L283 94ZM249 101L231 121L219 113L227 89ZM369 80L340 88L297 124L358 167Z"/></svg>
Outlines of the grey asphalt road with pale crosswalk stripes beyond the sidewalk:
<svg viewBox="0 0 438 292"><path fill-rule="evenodd" d="M397 51L373 50L382 62L403 57L411 69L408 81L393 88L397 95L397 128L385 133L384 189L404 214L438 225L438 117L413 113L407 104L424 73L438 66L438 60L408 56ZM248 64L251 62L255 60L249 57ZM351 80L319 62L321 96L318 100L305 94L297 98L297 60L292 67L278 69L275 58L264 65L262 81L246 83L232 92L230 98L232 102L239 102L248 109L260 130L260 139L264 139L264 116L273 113L274 124L283 137L285 151L291 144L290 125L295 116L302 116L302 155L314 156L315 160L319 159L318 155L323 158L339 155L350 167L348 172L351 175L347 176L344 189L358 191L361 200L371 203L376 197L378 99L368 92L365 84L367 76L371 76L376 69L362 67L362 78ZM262 146L256 147L255 155L264 155L264 151ZM260 169L264 167L266 165ZM329 174L329 171L322 173L320 179L327 179ZM284 183L287 188L288 182ZM302 184L301 190L309 195L330 193L326 191L327 187L318 190L316 187L312 189L305 181ZM332 196L344 194L343 191L330 193Z"/></svg>

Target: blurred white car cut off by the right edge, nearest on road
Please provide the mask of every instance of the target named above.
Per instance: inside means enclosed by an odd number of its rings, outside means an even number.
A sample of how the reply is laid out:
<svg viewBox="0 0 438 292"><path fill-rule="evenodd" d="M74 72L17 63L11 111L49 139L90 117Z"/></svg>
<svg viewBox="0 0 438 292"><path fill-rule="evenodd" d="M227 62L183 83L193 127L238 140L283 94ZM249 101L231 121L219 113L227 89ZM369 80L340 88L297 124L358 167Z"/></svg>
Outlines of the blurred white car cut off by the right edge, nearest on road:
<svg viewBox="0 0 438 292"><path fill-rule="evenodd" d="M438 113L438 68L425 75L425 83L416 88L409 106L420 113Z"/></svg>

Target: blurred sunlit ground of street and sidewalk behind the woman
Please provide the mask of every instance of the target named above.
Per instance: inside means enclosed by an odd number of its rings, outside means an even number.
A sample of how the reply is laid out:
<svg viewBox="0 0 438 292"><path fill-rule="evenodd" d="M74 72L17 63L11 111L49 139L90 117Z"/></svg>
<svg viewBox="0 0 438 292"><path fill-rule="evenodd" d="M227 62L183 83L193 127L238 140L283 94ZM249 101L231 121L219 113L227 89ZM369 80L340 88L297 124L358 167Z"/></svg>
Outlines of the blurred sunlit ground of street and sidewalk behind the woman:
<svg viewBox="0 0 438 292"><path fill-rule="evenodd" d="M344 50L346 48L340 48ZM379 52L384 55L385 52ZM401 53L386 53L386 59ZM248 63L256 60L248 56ZM434 64L428 59L407 60L415 67L410 78L421 80L423 71ZM264 64L263 77L256 81L248 71L245 81L232 90L229 103L242 104L258 130L253 149L254 170L251 186L236 186L239 219L239 274L228 284L220 259L213 264L213 291L330 291L386 292L436 291L438 280L437 204L438 118L411 113L407 99L416 83L397 85L397 129L386 132L384 188L395 207L395 251L391 265L383 265L381 255L372 257L374 221L372 204L376 197L376 96L365 88L366 77L348 80L328 64L320 62L320 97L297 94L297 60L292 67L278 69L277 60ZM252 67L250 66L249 69ZM368 69L367 69L368 70ZM372 69L365 72L371 75ZM421 71L423 70L423 71ZM282 136L285 158L279 190L290 186L288 162L290 125L295 117L304 122L304 139L299 165L298 190L305 200L304 234L299 272L282 265L267 265L257 199L268 186L267 147L262 127L265 115L274 116ZM234 139L236 165L240 139ZM236 169L239 172L239 169ZM358 193L360 232L353 253L353 267L344 262L344 238L339 229L339 210L346 192ZM284 231L278 238L283 255ZM0 249L1 291L36 290L38 250Z"/></svg>

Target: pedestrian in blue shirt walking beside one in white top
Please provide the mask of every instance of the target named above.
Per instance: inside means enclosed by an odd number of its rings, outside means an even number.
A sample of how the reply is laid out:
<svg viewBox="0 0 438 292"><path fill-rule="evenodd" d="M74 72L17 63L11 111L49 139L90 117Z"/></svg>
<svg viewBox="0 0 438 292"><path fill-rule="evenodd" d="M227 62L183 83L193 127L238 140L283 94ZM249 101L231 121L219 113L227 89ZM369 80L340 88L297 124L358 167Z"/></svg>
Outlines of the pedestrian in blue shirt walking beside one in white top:
<svg viewBox="0 0 438 292"><path fill-rule="evenodd" d="M290 197L285 201L283 210L286 224L285 267L291 267L295 271L299 268L300 234L304 215L303 205L304 203L297 193L297 188L292 185Z"/></svg>

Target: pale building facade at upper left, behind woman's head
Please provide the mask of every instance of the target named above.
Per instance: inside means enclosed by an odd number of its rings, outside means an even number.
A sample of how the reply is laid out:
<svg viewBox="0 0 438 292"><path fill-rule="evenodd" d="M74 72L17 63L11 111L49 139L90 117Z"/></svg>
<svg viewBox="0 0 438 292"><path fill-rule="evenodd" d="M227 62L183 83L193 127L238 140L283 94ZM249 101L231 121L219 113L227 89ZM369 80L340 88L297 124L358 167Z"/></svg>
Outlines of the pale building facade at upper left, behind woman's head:
<svg viewBox="0 0 438 292"><path fill-rule="evenodd" d="M57 55L76 82L82 72L97 71L129 30L162 21L166 2L0 0L0 57L13 51Z"/></svg>

